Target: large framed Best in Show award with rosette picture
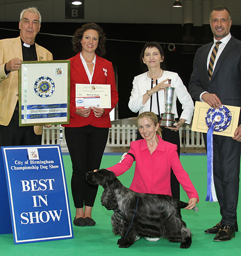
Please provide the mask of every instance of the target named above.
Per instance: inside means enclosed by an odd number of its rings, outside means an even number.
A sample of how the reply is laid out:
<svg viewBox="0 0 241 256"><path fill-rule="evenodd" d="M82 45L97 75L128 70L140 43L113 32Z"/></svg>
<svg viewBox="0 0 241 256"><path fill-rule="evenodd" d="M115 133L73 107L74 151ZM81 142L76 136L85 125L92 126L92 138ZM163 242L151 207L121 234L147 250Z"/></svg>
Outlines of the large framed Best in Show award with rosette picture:
<svg viewBox="0 0 241 256"><path fill-rule="evenodd" d="M70 61L23 61L19 126L69 123Z"/></svg>

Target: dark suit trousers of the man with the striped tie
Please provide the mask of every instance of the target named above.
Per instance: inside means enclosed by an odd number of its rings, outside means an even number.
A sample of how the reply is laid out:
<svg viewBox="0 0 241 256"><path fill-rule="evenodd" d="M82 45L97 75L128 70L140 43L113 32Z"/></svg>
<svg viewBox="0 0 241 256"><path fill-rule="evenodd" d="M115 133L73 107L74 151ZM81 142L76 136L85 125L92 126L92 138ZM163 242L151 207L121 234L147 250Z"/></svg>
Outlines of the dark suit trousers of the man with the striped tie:
<svg viewBox="0 0 241 256"><path fill-rule="evenodd" d="M207 135L203 134L205 146ZM214 185L222 216L221 224L234 228L240 182L241 143L231 137L213 135Z"/></svg>

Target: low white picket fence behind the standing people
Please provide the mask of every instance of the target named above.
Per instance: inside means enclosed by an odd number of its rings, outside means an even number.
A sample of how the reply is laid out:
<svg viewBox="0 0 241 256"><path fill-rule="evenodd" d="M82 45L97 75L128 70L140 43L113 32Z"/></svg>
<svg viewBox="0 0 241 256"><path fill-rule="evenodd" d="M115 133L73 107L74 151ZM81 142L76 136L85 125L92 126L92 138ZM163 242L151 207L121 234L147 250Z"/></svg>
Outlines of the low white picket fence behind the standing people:
<svg viewBox="0 0 241 256"><path fill-rule="evenodd" d="M114 125L109 129L107 146L129 147L130 142L136 139L137 127L135 125ZM179 130L181 148L204 148L203 136L199 132L192 132L191 127L186 125ZM64 127L53 125L51 128L43 128L42 145L60 144L67 147Z"/></svg>

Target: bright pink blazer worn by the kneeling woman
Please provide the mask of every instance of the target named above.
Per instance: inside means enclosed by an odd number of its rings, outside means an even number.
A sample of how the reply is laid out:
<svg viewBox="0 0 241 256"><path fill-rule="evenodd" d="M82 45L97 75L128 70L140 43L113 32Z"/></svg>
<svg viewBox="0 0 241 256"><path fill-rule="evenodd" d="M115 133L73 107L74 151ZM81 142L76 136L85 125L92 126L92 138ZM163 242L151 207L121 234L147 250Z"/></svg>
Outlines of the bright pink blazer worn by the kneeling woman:
<svg viewBox="0 0 241 256"><path fill-rule="evenodd" d="M187 172L183 169L178 158L177 146L164 141L159 135L159 144L155 151L150 154L145 139L131 142L128 153L135 158L134 178L130 189L139 193L172 195L170 175L171 168L177 180L186 191L188 198L199 198ZM127 154L116 165L107 168L119 176L131 168L134 158Z"/></svg>

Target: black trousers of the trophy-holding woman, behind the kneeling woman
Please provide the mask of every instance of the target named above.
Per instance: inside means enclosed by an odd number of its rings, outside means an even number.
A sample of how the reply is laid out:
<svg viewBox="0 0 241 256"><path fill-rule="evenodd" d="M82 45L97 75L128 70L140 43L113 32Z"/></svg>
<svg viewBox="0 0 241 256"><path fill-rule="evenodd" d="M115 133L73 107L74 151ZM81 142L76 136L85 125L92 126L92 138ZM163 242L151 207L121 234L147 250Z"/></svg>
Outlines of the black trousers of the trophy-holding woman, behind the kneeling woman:
<svg viewBox="0 0 241 256"><path fill-rule="evenodd" d="M159 119L160 120L160 119ZM180 157L180 138L179 138L179 132L174 132L170 129L167 129L165 127L161 127L162 132L162 139L168 142L171 142L177 146L177 153ZM137 132L137 139L142 139L142 136L140 135L139 131ZM171 190L172 190L172 196L174 198L177 198L180 200L180 184L176 178L176 176L173 173L173 170L171 169Z"/></svg>

